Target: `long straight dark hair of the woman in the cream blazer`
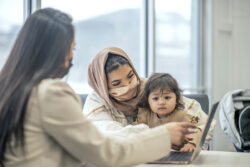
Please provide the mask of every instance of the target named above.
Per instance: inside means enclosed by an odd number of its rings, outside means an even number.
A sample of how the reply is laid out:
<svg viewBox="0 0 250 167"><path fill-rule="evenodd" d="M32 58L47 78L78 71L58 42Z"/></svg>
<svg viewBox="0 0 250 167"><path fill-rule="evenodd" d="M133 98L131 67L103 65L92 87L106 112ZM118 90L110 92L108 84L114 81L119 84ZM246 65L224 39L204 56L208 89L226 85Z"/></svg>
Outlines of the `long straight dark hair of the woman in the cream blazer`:
<svg viewBox="0 0 250 167"><path fill-rule="evenodd" d="M25 113L32 88L46 78L62 78L69 68L66 57L74 41L72 19L58 10L40 9L20 30L0 72L0 166L4 153L25 144Z"/></svg>

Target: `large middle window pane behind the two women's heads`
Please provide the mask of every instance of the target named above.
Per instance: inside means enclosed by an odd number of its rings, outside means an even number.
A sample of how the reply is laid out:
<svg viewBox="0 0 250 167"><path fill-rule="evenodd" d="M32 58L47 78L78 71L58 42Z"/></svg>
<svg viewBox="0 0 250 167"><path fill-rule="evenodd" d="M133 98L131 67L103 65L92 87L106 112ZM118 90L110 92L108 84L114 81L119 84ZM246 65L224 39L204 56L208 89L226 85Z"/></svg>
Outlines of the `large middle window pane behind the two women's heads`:
<svg viewBox="0 0 250 167"><path fill-rule="evenodd" d="M140 18L142 0L42 0L70 14L76 30L73 67L67 78L77 93L88 93L87 69L96 53L107 47L122 48L140 74Z"/></svg>

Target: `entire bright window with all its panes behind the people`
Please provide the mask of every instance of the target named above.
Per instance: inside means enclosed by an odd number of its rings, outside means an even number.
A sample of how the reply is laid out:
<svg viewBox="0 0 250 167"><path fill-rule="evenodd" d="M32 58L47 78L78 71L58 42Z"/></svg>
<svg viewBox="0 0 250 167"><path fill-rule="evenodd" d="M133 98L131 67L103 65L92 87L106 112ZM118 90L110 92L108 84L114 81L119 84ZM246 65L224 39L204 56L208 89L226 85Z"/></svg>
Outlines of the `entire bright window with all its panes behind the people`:
<svg viewBox="0 0 250 167"><path fill-rule="evenodd" d="M77 46L73 67L65 79L77 93L91 91L88 64L107 46L124 49L140 76L167 72L185 93L204 91L202 0L1 0L0 70L20 30L23 14L28 12L23 10L25 2L30 3L31 11L34 7L52 7L73 17Z"/></svg>

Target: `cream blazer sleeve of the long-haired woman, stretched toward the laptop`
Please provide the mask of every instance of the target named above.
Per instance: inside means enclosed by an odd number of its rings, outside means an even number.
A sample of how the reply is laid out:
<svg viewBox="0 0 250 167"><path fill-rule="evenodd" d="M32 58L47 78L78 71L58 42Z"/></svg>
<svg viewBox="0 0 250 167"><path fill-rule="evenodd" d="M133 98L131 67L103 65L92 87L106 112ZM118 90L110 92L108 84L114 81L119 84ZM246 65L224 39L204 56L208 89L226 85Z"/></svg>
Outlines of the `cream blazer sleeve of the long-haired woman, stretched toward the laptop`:
<svg viewBox="0 0 250 167"><path fill-rule="evenodd" d="M38 105L45 133L79 161L103 167L131 166L161 158L170 151L164 126L123 140L111 139L84 117L79 97L66 83L54 82L40 92Z"/></svg>

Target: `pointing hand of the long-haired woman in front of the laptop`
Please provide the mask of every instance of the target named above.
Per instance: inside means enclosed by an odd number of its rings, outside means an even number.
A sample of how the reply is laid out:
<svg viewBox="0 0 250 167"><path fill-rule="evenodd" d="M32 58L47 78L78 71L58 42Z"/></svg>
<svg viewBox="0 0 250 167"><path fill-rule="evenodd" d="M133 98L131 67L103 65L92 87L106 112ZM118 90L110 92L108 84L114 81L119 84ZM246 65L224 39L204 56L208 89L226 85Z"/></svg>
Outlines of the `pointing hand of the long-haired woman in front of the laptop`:
<svg viewBox="0 0 250 167"><path fill-rule="evenodd" d="M197 127L189 122L171 122L166 124L171 138L172 148L179 150L188 142L186 135L196 133Z"/></svg>

